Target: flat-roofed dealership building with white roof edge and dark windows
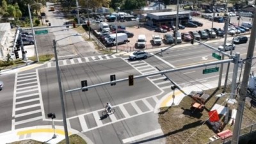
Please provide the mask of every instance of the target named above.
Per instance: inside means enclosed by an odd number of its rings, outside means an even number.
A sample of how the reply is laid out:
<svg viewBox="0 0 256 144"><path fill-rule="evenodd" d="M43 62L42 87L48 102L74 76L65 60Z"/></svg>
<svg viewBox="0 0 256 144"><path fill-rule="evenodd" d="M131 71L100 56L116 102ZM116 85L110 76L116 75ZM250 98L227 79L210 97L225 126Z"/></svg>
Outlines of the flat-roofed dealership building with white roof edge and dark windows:
<svg viewBox="0 0 256 144"><path fill-rule="evenodd" d="M176 24L177 11L147 13L147 24L149 26L172 26ZM189 12L179 12L179 24L184 24L189 20Z"/></svg>

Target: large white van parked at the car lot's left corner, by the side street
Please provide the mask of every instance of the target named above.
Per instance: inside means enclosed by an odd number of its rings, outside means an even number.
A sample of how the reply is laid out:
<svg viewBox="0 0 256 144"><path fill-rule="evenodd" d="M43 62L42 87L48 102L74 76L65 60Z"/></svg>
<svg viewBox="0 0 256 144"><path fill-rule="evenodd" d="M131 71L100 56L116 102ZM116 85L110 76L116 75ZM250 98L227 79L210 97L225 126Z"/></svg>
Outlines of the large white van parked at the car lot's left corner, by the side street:
<svg viewBox="0 0 256 144"><path fill-rule="evenodd" d="M125 44L129 42L128 36L126 35L126 33L117 33L117 37L116 37L116 34L110 36L110 38L107 41L107 45L111 45L111 46L115 45L116 40L117 40L117 44Z"/></svg>

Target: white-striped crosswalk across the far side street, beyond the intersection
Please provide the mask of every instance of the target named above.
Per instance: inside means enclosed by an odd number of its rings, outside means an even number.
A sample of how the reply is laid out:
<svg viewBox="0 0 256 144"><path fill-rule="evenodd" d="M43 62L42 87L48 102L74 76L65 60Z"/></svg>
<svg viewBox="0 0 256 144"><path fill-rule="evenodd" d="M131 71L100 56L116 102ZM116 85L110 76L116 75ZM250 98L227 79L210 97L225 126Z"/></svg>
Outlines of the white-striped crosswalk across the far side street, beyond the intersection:
<svg viewBox="0 0 256 144"><path fill-rule="evenodd" d="M89 61L99 61L99 60L109 60L116 58L115 55L99 55L99 56L90 56L90 57L84 57L84 58L74 58L74 59L68 59L68 60L59 60L59 65L72 65L72 64L77 64L77 63L84 63L84 62L89 62ZM55 67L56 62L51 61L47 63L47 67Z"/></svg>

